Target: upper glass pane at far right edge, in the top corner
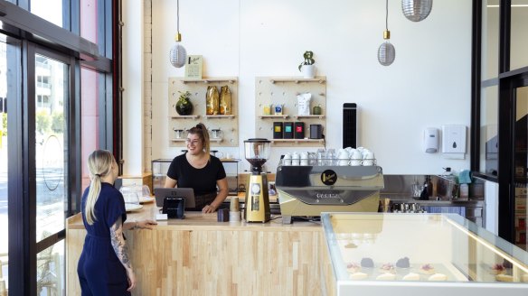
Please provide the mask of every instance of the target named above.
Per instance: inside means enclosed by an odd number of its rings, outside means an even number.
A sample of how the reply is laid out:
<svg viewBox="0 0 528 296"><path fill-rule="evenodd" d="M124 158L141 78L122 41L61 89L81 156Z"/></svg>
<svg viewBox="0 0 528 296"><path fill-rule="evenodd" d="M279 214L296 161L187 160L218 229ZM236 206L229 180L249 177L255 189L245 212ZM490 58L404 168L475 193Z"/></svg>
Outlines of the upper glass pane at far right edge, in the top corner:
<svg viewBox="0 0 528 296"><path fill-rule="evenodd" d="M512 0L510 70L528 66L528 0Z"/></svg>

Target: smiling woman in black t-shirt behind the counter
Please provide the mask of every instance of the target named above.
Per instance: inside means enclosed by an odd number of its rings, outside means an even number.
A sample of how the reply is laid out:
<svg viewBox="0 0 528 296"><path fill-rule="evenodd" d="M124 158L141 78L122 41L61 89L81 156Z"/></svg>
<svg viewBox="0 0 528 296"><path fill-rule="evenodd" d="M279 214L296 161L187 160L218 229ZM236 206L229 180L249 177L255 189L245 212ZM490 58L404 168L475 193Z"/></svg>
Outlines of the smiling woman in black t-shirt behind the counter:
<svg viewBox="0 0 528 296"><path fill-rule="evenodd" d="M213 213L229 189L222 162L211 155L209 133L203 124L193 126L187 134L187 153L176 156L169 166L165 188L192 188L196 208ZM218 192L216 187L218 186Z"/></svg>

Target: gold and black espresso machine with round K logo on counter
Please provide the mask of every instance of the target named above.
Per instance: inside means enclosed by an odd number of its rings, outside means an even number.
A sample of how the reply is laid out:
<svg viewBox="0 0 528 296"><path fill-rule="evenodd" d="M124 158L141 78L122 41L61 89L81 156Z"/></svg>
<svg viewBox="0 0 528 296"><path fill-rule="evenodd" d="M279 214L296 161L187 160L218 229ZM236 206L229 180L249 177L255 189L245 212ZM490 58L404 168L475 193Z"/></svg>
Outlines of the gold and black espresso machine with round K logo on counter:
<svg viewBox="0 0 528 296"><path fill-rule="evenodd" d="M275 186L282 222L320 217L322 212L377 212L383 171L377 165L283 165Z"/></svg>

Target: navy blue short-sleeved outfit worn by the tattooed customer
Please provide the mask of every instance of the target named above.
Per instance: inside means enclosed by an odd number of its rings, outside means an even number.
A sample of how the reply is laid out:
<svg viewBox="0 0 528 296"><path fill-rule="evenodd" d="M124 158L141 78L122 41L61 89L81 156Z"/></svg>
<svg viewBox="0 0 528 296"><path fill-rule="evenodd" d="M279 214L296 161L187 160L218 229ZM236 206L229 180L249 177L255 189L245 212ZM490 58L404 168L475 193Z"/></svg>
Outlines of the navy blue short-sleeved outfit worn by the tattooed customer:
<svg viewBox="0 0 528 296"><path fill-rule="evenodd" d="M108 183L101 183L99 198L95 203L97 220L86 222L85 205L90 188L84 190L80 202L82 222L87 230L80 254L77 274L82 295L130 295L125 267L118 259L110 241L110 227L118 217L127 219L125 200L121 192Z"/></svg>

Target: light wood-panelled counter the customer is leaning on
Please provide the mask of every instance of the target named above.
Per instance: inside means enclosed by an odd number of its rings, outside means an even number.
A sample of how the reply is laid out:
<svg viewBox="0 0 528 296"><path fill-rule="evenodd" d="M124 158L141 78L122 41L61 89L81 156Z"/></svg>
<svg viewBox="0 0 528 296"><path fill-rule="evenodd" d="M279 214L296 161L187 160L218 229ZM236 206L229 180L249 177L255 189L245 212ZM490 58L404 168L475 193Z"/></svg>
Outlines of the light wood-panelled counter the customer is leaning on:
<svg viewBox="0 0 528 296"><path fill-rule="evenodd" d="M155 217L146 204L127 221ZM137 277L134 295L321 295L327 269L318 223L282 225L217 222L216 213L186 212L158 221L154 230L126 232ZM80 214L66 227L67 294L79 295L77 277L86 230Z"/></svg>

